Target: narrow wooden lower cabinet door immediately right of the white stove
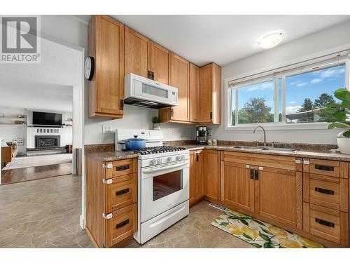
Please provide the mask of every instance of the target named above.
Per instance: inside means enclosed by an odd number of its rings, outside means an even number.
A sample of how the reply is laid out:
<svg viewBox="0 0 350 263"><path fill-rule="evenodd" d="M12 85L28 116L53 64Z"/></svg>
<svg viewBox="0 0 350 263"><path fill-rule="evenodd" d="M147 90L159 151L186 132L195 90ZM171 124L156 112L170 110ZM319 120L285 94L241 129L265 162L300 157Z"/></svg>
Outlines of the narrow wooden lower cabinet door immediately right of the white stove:
<svg viewBox="0 0 350 263"><path fill-rule="evenodd" d="M190 151L190 205L204 196L203 150Z"/></svg>

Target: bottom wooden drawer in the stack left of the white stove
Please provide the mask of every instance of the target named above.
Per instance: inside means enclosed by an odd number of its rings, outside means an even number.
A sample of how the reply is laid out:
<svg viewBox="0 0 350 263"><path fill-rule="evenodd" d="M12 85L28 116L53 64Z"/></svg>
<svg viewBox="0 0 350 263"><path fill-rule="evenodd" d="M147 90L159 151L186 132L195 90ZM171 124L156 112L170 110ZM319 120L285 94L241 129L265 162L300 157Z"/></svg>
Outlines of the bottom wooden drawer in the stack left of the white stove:
<svg viewBox="0 0 350 263"><path fill-rule="evenodd" d="M118 246L133 238L137 231L137 203L113 212L106 220L106 247Z"/></svg>

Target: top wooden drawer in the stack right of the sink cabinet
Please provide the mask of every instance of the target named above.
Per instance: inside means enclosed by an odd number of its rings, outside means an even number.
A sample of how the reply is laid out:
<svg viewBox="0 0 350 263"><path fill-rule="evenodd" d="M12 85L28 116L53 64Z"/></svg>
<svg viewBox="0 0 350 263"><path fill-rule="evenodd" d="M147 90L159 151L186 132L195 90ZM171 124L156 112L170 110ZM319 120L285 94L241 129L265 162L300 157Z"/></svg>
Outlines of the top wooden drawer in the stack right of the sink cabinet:
<svg viewBox="0 0 350 263"><path fill-rule="evenodd" d="M309 169L309 173L339 177L339 161L310 159L309 165L304 162L304 166L306 166L304 172Z"/></svg>

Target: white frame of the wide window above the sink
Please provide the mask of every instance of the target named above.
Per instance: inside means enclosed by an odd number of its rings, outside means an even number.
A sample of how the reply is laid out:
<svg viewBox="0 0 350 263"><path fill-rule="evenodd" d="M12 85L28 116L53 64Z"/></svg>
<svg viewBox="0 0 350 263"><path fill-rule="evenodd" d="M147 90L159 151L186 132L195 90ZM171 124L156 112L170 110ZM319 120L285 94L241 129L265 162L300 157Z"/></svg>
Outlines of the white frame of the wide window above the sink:
<svg viewBox="0 0 350 263"><path fill-rule="evenodd" d="M335 67L337 64L345 64L345 88L349 90L350 86L350 60L347 58L346 60L339 60L339 62L335 61L333 63L327 63L323 64L322 62L319 63L319 66L316 70L321 70L325 69L328 67ZM301 66L302 67L302 66ZM235 126L231 126L231 109L232 109L232 97L231 97L231 90L232 88L229 88L228 83L236 78L228 78L225 79L224 81L224 91L225 91L225 104L224 104L224 118L225 118L225 130L251 130L257 125L264 126L266 130L328 130L328 123L325 122L317 122L317 123L286 123L286 77L288 76L293 76L296 74L302 74L305 72L312 72L313 68L315 65L312 67L304 67L302 69L297 69L294 72L288 72L288 74L276 74L274 77L266 77L264 78L263 76L259 78L258 81L255 83L260 83L264 81L270 81L272 79L282 79L282 87L281 87L281 93L282 93L282 121L281 122L273 122L273 123L244 123L244 124L239 124L238 123L238 114L237 114L237 109L238 109L238 89L242 86L246 86L247 84L242 84L242 85L237 85L234 87L236 90L235 94ZM276 115L276 112L278 112L278 101L276 100L276 81L275 81L275 88L274 88L274 114ZM278 117L278 116L277 116ZM276 118L276 116L275 116ZM276 119L275 119L276 121Z"/></svg>

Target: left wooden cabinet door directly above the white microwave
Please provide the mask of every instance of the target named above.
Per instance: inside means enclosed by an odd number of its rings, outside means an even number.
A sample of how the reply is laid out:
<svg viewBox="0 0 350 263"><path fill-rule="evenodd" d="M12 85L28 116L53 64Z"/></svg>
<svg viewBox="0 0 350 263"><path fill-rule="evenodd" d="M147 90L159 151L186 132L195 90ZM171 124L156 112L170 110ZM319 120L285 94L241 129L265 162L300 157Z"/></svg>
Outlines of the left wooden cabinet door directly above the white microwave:
<svg viewBox="0 0 350 263"><path fill-rule="evenodd" d="M134 73L148 77L151 68L151 41L125 27L125 75Z"/></svg>

